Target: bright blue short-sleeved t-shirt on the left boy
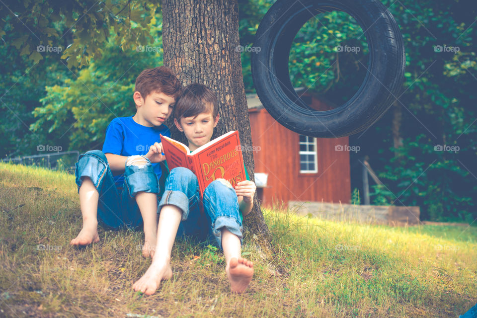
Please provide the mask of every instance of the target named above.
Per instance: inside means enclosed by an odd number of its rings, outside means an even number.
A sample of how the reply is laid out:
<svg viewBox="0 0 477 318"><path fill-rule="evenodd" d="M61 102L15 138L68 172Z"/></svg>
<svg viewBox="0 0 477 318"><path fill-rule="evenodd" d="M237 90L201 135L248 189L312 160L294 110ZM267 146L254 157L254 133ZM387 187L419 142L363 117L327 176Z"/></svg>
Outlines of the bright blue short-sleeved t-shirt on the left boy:
<svg viewBox="0 0 477 318"><path fill-rule="evenodd" d="M169 128L165 125L146 127L135 122L133 116L114 118L106 128L103 153L120 156L146 155L149 147L156 142L160 143L159 134L170 137ZM159 179L160 164L158 162L152 165ZM122 186L124 172L118 174L113 171L113 178L116 186Z"/></svg>

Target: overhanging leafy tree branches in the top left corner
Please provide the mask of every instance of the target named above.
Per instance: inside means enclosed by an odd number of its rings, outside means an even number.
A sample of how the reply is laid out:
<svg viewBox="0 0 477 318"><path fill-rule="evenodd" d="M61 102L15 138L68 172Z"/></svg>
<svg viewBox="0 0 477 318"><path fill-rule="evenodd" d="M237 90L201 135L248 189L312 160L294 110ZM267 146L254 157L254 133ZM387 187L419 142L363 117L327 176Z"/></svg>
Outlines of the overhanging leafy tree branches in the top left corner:
<svg viewBox="0 0 477 318"><path fill-rule="evenodd" d="M122 50L149 42L158 5L157 0L12 1L0 7L0 36L7 28L21 33L9 45L35 63L44 53L63 52L68 68L82 67L101 58L110 31ZM72 42L65 46L66 39Z"/></svg>

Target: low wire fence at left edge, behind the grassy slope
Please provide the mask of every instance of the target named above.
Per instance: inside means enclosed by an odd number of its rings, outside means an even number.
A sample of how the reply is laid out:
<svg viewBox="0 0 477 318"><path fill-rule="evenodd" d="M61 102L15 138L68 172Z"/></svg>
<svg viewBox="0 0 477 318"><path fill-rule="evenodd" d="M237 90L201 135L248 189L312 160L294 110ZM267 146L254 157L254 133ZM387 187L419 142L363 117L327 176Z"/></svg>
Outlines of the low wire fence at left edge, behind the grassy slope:
<svg viewBox="0 0 477 318"><path fill-rule="evenodd" d="M1 159L2 162L13 164L35 165L52 170L61 170L68 173L75 173L79 151L56 152L34 156L23 156L16 158Z"/></svg>

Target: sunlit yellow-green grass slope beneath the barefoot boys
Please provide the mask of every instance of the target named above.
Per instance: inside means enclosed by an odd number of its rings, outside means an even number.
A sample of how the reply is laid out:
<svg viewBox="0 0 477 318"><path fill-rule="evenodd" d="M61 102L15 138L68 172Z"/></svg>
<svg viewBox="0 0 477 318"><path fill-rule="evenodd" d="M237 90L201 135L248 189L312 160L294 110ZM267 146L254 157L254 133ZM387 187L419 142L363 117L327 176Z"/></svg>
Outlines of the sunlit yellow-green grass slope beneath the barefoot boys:
<svg viewBox="0 0 477 318"><path fill-rule="evenodd" d="M246 238L243 295L229 292L222 253L179 241L172 279L144 296L131 288L151 262L142 232L100 228L99 243L71 247L74 177L0 163L0 317L457 317L477 301L476 227L263 213L274 251Z"/></svg>

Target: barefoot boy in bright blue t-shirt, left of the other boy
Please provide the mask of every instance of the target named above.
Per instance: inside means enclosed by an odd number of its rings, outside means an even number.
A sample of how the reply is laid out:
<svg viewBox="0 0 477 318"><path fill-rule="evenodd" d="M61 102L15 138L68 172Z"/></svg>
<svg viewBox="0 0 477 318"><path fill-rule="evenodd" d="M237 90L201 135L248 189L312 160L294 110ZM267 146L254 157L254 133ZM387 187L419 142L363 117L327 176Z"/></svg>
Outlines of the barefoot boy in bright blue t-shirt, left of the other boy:
<svg viewBox="0 0 477 318"><path fill-rule="evenodd" d="M181 84L168 68L141 72L133 99L136 114L115 118L106 129L102 151L88 151L76 164L82 229L72 245L98 242L98 221L111 229L143 226L144 257L154 255L158 227L158 194L168 170L159 135L170 136L169 117Z"/></svg>

